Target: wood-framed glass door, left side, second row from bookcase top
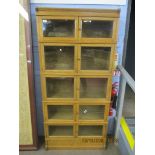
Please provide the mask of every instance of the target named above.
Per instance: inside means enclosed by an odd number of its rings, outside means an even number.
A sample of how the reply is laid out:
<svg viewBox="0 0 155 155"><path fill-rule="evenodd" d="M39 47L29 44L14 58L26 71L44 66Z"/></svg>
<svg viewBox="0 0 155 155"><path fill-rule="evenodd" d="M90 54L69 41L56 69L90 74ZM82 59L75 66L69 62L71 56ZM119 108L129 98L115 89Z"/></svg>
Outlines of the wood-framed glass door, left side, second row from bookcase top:
<svg viewBox="0 0 155 155"><path fill-rule="evenodd" d="M41 45L42 71L45 73L75 73L77 47L68 44Z"/></svg>

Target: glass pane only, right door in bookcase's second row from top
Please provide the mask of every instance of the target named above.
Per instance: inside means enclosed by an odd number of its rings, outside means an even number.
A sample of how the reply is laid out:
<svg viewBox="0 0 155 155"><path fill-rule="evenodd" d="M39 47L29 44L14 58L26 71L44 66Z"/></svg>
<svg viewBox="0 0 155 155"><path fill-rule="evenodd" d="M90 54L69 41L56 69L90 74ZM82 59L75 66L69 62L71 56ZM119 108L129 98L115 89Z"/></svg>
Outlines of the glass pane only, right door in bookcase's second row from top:
<svg viewBox="0 0 155 155"><path fill-rule="evenodd" d="M111 47L82 47L82 70L108 70L110 66Z"/></svg>

